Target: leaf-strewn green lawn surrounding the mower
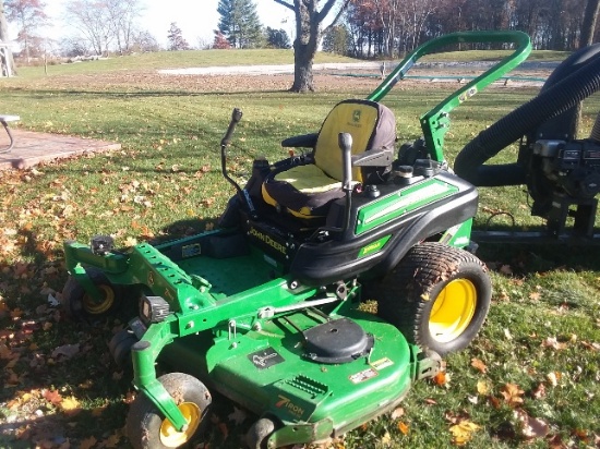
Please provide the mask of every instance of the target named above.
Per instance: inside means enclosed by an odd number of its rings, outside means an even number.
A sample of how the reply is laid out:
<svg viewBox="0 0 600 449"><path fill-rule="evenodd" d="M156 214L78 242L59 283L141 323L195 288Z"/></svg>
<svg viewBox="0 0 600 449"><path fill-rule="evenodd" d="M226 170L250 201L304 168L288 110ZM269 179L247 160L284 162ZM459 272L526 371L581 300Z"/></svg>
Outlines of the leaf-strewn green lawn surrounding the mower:
<svg viewBox="0 0 600 449"><path fill-rule="evenodd" d="M319 130L337 101L362 98L377 83L317 75L317 93L296 95L286 92L289 76L167 80L153 72L263 61L290 63L291 52L141 54L50 66L49 76L26 68L17 78L0 80L2 110L20 114L21 126L122 145L111 154L0 173L0 447L127 447L130 378L106 348L107 336L122 324L72 323L48 302L67 278L64 240L108 233L130 245L211 227L233 193L218 158L233 107L244 117L230 168L244 179L255 156L284 157L281 138ZM384 99L396 113L400 142L420 135L419 116L453 88L400 84ZM470 138L537 92L491 87L457 108L446 135L451 165ZM585 102L586 130L599 109L598 95ZM515 159L516 148L509 148L494 160ZM476 227L496 211L513 215L519 229L542 225L530 217L527 201L523 186L482 189ZM480 336L447 357L445 377L416 384L393 415L328 446L599 447L597 248L481 245L478 255L492 270L494 290ZM232 412L223 403L195 447L241 447L253 418L237 422L240 412L233 420Z"/></svg>

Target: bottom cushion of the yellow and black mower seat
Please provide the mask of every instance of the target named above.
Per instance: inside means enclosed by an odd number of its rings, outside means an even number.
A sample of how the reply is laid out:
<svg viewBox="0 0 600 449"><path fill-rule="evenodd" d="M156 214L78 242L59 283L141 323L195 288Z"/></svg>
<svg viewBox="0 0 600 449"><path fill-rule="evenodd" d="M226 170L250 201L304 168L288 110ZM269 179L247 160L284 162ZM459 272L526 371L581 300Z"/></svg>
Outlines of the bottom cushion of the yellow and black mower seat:
<svg viewBox="0 0 600 449"><path fill-rule="evenodd" d="M304 219L325 217L329 202L344 196L341 182L329 178L314 163L267 177L262 191L265 203Z"/></svg>

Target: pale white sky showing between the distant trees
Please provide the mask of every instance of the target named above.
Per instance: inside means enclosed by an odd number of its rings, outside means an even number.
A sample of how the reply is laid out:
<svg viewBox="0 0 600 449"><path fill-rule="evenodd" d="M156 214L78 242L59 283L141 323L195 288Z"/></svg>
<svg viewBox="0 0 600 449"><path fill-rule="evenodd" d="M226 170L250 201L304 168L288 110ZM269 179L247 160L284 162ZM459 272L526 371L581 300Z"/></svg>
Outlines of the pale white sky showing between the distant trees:
<svg viewBox="0 0 600 449"><path fill-rule="evenodd" d="M145 4L140 26L148 31L159 45L167 44L167 32L171 22L177 23L185 40L197 47L200 39L205 44L213 41L213 31L217 28L219 14L218 0L141 0ZM49 31L55 39L69 35L69 28L60 25L64 0L46 0L46 13L58 24ZM293 13L291 10L275 3L273 0L254 0L263 26L285 29L293 37ZM11 27L12 28L12 27ZM11 34L16 35L16 32Z"/></svg>

